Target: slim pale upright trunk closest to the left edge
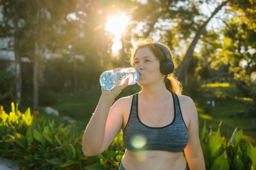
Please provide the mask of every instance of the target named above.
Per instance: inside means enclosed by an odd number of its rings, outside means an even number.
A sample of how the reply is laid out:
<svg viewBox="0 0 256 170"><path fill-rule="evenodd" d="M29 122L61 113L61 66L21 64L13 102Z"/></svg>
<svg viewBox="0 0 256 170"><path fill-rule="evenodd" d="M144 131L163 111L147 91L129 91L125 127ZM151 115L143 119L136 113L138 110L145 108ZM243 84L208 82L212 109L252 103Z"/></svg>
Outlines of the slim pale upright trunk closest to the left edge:
<svg viewBox="0 0 256 170"><path fill-rule="evenodd" d="M22 86L22 79L21 79L21 69L20 69L20 54L19 54L19 27L18 27L18 12L19 12L19 1L15 3L15 16L14 16L14 55L15 55L15 77L17 80L15 93L17 99L15 103L20 105L21 99L21 86Z"/></svg>

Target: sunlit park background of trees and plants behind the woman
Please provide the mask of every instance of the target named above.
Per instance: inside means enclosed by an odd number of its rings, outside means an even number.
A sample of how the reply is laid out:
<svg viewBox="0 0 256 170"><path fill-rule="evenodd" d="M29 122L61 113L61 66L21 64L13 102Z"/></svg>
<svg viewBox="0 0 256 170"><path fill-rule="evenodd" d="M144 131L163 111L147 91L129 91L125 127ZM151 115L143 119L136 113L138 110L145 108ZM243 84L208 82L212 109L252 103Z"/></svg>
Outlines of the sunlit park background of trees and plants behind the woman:
<svg viewBox="0 0 256 170"><path fill-rule="evenodd" d="M121 137L92 159L79 152L81 135L98 104L100 74L130 67L133 43L150 37L170 47L183 95L196 103L207 168L216 168L225 152L227 169L255 168L246 147L250 142L254 153L255 14L255 0L0 0L0 155L28 169L117 168ZM128 86L116 100L140 89ZM71 141L67 127L76 131ZM56 129L59 137L49 139ZM214 135L221 136L215 151L208 142ZM61 158L59 147L71 148L71 156Z"/></svg>

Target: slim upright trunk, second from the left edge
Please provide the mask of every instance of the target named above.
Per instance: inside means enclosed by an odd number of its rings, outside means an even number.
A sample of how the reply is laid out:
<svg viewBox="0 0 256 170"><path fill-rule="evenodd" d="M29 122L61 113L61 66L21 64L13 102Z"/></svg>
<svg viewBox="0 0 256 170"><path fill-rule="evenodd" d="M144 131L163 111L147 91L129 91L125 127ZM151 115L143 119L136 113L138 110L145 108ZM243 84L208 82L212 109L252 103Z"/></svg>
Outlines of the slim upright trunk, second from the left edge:
<svg viewBox="0 0 256 170"><path fill-rule="evenodd" d="M40 19L40 2L37 0L37 13L35 18L34 29L34 72L33 72L33 109L38 108L38 66L39 66L39 44L38 44L38 31L39 31L39 19Z"/></svg>

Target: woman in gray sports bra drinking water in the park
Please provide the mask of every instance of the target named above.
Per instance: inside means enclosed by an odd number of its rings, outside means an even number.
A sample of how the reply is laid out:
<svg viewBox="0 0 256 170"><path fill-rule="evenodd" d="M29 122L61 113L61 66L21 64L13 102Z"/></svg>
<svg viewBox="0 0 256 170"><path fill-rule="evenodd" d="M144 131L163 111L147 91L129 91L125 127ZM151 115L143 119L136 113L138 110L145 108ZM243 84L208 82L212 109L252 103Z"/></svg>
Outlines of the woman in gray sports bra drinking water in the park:
<svg viewBox="0 0 256 170"><path fill-rule="evenodd" d="M142 90L119 99L112 107L128 79L112 90L102 90L84 132L84 155L102 153L122 130L126 150L120 169L184 170L183 150L191 170L205 169L195 104L181 95L181 85L174 75L162 70L162 64L172 60L167 60L169 56L170 49L164 44L149 38L137 41L130 61L140 73L138 84Z"/></svg>

